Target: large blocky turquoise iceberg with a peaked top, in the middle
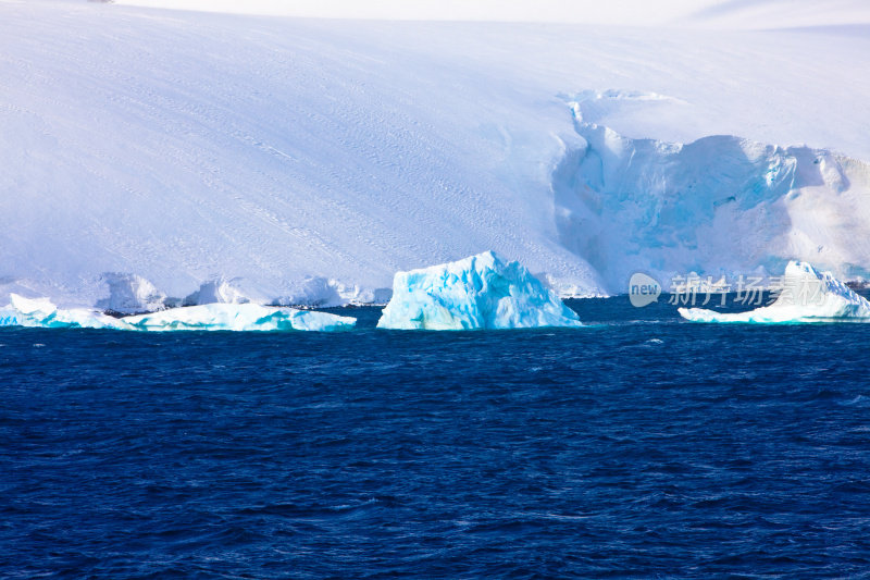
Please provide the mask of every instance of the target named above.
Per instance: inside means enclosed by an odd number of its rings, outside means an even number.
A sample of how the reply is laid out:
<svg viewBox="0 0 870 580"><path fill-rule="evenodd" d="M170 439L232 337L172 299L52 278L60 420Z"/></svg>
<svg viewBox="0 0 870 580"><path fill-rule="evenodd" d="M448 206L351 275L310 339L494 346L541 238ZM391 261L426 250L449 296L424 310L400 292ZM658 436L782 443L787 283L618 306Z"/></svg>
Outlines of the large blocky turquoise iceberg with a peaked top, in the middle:
<svg viewBox="0 0 870 580"><path fill-rule="evenodd" d="M493 251L397 272L378 329L580 326L580 318L519 262Z"/></svg>

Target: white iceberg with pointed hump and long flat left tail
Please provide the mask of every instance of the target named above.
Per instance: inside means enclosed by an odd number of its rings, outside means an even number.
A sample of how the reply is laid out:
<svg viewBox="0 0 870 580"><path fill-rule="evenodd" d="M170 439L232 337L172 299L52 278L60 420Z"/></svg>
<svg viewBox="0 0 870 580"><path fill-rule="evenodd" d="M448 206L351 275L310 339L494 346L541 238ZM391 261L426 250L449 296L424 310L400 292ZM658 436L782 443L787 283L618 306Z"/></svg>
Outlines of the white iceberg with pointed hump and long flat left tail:
<svg viewBox="0 0 870 580"><path fill-rule="evenodd" d="M680 308L680 316L693 322L870 322L870 301L831 272L819 272L807 262L791 261L782 279L782 291L770 306L731 313Z"/></svg>

